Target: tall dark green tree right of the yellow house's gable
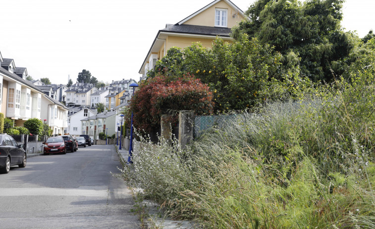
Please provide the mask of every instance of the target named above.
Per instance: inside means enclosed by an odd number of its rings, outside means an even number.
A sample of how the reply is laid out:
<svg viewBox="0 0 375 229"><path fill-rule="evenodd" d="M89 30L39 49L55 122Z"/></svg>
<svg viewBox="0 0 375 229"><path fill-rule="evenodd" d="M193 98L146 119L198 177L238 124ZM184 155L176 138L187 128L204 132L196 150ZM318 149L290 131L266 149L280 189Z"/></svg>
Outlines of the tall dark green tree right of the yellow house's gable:
<svg viewBox="0 0 375 229"><path fill-rule="evenodd" d="M358 39L341 27L344 0L257 0L246 14L250 21L242 21L232 30L239 38L246 33L262 44L275 47L288 57L300 57L301 73L315 81L330 81L331 69L337 75L344 68L332 66L345 58ZM291 55L292 54L292 55Z"/></svg>

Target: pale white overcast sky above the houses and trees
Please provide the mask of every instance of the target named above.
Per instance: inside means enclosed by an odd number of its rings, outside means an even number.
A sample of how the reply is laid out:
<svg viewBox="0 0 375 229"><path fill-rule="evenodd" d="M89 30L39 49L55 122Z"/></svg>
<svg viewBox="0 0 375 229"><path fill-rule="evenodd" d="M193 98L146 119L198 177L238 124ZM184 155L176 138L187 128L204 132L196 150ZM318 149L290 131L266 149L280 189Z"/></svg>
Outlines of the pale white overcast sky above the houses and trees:
<svg viewBox="0 0 375 229"><path fill-rule="evenodd" d="M0 0L0 52L34 79L76 82L83 69L99 81L139 80L158 31L213 0ZM245 11L255 0L232 0ZM346 0L342 25L375 30L375 0Z"/></svg>

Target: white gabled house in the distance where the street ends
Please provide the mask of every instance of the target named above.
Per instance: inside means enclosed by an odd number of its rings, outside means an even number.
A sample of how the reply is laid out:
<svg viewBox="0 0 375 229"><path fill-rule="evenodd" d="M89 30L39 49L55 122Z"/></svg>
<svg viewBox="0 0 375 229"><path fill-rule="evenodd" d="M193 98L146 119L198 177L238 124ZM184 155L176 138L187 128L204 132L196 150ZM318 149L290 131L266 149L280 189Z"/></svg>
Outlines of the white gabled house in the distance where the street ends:
<svg viewBox="0 0 375 229"><path fill-rule="evenodd" d="M95 110L88 109L85 107L79 107L80 110L75 113L68 115L68 130L67 133L73 136L79 136L82 133L82 128L86 130L86 126L82 126L82 119L92 117L96 115Z"/></svg>

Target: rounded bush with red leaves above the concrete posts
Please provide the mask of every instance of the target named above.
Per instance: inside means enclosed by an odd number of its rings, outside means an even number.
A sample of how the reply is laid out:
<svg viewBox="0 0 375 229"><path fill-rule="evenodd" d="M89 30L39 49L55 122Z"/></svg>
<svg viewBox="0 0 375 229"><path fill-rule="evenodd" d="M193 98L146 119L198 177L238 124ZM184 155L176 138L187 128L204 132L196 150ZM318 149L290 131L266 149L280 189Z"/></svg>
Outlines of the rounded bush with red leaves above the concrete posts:
<svg viewBox="0 0 375 229"><path fill-rule="evenodd" d="M134 93L127 123L133 111L134 127L149 132L160 127L161 114L179 110L194 110L196 115L212 114L214 102L209 87L189 74L177 79L155 76L142 82Z"/></svg>

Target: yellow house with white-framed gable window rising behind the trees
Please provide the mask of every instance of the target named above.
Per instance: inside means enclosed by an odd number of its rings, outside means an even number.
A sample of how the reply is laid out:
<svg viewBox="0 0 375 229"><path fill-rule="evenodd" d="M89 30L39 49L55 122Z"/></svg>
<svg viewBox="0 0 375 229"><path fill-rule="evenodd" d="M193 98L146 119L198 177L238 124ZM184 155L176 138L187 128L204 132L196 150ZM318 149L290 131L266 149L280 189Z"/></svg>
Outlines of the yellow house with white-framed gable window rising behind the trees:
<svg viewBox="0 0 375 229"><path fill-rule="evenodd" d="M154 69L156 61L173 46L184 48L200 42L205 47L211 47L216 36L231 41L230 29L242 20L250 19L233 2L214 0L182 21L166 24L164 29L159 30L139 74L144 79L147 72Z"/></svg>

